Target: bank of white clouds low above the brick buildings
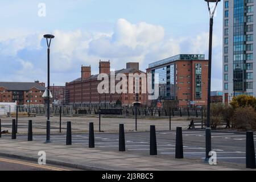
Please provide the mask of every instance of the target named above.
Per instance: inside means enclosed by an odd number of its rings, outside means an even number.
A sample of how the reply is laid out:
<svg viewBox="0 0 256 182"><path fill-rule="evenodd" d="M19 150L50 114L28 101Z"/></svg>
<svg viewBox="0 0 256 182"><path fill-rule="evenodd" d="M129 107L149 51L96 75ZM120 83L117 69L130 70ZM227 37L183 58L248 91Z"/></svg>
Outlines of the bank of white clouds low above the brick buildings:
<svg viewBox="0 0 256 182"><path fill-rule="evenodd" d="M183 37L167 37L164 28L145 22L133 24L125 19L119 19L112 33L75 31L53 31L55 39L51 44L51 71L56 82L64 83L80 75L80 65L92 65L97 73L98 60L111 60L113 69L125 67L126 61L139 61L141 69L148 63L174 56L179 53L205 53L208 55L208 32L199 35ZM14 36L9 39L0 38L1 56L13 56L21 65L18 74L24 78L38 72L40 80L46 81L46 49L42 45L43 32L26 36ZM42 43L42 45L41 45ZM46 46L45 46L46 47ZM222 75L221 39L213 35L213 82L219 82ZM25 57L19 57L18 52L26 51ZM36 52L38 51L38 52ZM28 52L28 54L27 54ZM38 55L31 57L34 52ZM26 57L27 56L27 57ZM0 59L1 60L1 59ZM26 60L26 61L25 61ZM35 66L36 65L36 66ZM40 65L40 66L39 66ZM35 69L36 68L36 69ZM28 76L28 73L29 76ZM63 73L67 76L63 76ZM216 74L217 73L217 74ZM35 74L36 75L36 74ZM59 77L58 77L59 75ZM72 75L72 77L71 77ZM214 84L213 84L214 85ZM218 88L216 84L213 88Z"/></svg>

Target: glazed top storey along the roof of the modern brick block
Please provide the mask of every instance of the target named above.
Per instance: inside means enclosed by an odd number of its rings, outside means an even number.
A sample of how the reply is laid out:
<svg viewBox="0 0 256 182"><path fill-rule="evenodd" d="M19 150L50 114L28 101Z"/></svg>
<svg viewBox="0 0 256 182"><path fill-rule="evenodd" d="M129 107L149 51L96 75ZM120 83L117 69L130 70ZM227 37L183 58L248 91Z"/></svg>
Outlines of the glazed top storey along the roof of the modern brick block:
<svg viewBox="0 0 256 182"><path fill-rule="evenodd" d="M205 60L205 55L176 55L148 64L148 68L157 67L158 65L162 64L172 63L176 60Z"/></svg>

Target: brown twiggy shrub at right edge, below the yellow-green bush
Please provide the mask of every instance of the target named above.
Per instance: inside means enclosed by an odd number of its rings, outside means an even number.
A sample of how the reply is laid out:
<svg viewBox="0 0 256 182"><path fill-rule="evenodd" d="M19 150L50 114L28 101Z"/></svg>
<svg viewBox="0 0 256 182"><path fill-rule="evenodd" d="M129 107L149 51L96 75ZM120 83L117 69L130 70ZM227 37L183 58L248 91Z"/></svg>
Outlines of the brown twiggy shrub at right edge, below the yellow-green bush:
<svg viewBox="0 0 256 182"><path fill-rule="evenodd" d="M253 107L238 107L234 111L233 122L237 129L256 129L256 112Z"/></svg>

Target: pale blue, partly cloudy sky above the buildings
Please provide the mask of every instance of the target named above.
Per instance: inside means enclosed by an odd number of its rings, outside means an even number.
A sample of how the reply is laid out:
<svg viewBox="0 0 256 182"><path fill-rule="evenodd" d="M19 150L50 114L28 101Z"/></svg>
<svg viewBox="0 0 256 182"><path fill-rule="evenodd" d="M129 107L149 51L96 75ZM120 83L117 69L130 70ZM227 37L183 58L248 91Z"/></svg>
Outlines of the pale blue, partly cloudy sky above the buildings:
<svg viewBox="0 0 256 182"><path fill-rule="evenodd" d="M212 90L222 90L222 2L214 16ZM45 8L44 8L45 7ZM44 11L45 10L45 11ZM208 58L209 12L203 0L12 0L0 6L0 81L47 82L47 44L53 34L51 85L127 62L148 64L177 54Z"/></svg>

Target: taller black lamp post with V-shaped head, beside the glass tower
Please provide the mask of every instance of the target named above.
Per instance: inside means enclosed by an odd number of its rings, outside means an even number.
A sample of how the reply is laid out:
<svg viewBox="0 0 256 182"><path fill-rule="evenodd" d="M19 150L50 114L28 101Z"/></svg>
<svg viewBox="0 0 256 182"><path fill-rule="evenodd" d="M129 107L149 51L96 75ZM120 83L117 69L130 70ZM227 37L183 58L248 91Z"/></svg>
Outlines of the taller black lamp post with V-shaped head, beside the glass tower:
<svg viewBox="0 0 256 182"><path fill-rule="evenodd" d="M210 15L210 32L209 32L209 64L208 64L208 96L207 96L207 129L205 130L205 162L209 161L209 152L212 150L212 137L210 130L210 81L212 76L212 32L213 32L213 16L216 11L218 2L221 0L204 0L207 2ZM210 10L210 3L216 3L213 11Z"/></svg>

